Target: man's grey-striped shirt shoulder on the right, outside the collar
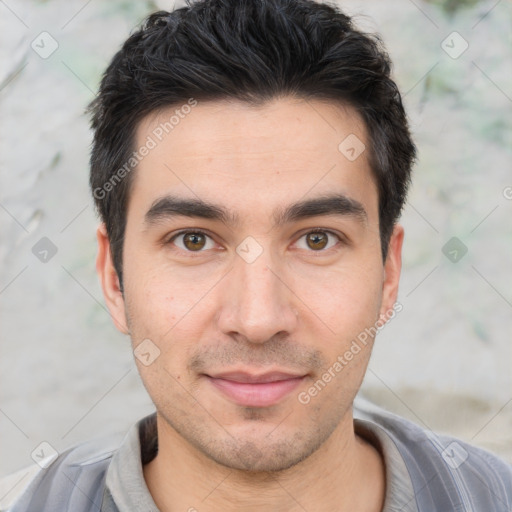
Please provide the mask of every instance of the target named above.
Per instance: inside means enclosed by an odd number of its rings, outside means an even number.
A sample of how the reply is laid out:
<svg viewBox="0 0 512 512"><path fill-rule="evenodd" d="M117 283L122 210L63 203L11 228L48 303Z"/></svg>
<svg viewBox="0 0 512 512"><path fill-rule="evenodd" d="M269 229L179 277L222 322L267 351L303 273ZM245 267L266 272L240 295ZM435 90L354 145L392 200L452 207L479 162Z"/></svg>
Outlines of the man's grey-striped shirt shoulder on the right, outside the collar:
<svg viewBox="0 0 512 512"><path fill-rule="evenodd" d="M497 455L365 401L355 404L354 417L372 423L394 443L419 510L512 510L512 465Z"/></svg>

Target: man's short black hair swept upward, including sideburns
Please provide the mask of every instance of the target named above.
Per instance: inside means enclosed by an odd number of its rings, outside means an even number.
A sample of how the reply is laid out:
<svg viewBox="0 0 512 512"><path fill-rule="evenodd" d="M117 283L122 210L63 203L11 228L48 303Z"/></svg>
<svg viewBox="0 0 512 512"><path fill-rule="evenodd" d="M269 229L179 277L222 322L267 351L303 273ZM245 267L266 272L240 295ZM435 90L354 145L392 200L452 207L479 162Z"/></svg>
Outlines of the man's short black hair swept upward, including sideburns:
<svg viewBox="0 0 512 512"><path fill-rule="evenodd" d="M191 99L261 105L285 96L338 102L361 115L385 261L416 148L380 37L356 29L335 5L313 0L187 0L144 20L112 59L89 105L90 185L121 287L140 121Z"/></svg>

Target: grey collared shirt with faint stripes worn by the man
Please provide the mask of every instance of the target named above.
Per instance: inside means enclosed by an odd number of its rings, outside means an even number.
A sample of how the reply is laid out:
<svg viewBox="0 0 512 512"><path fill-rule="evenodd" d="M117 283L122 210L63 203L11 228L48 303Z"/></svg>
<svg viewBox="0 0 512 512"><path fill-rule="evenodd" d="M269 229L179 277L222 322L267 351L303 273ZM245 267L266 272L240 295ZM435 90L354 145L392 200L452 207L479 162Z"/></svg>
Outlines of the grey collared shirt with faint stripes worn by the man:
<svg viewBox="0 0 512 512"><path fill-rule="evenodd" d="M354 426L383 455L383 512L512 510L512 466L497 456L361 400L354 406ZM37 473L9 510L158 512L142 471L157 449L153 414L121 443L108 438L61 454Z"/></svg>

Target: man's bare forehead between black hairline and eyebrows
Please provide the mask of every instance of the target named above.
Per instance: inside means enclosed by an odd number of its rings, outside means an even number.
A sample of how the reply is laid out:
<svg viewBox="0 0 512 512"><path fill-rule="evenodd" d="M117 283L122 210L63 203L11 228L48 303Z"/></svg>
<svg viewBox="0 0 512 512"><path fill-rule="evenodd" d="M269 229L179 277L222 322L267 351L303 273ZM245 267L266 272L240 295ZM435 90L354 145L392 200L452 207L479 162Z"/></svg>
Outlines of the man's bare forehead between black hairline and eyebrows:
<svg viewBox="0 0 512 512"><path fill-rule="evenodd" d="M178 194L254 213L337 192L376 209L365 125L352 107L295 98L188 104L153 112L137 128L136 150L151 146L134 174L137 207Z"/></svg>

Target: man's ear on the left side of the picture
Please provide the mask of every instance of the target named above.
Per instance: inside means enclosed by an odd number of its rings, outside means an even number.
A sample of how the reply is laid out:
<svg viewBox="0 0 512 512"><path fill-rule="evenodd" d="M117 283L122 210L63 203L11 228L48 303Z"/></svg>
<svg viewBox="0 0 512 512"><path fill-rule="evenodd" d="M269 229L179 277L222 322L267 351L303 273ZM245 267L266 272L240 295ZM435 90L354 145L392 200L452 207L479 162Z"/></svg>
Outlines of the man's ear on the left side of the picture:
<svg viewBox="0 0 512 512"><path fill-rule="evenodd" d="M100 278L103 297L107 304L110 316L116 328L123 334L129 334L126 321L126 309L123 294L119 284L119 277L110 250L110 241L107 236L105 224L100 224L96 230L98 240L98 256L96 258L96 272Z"/></svg>

